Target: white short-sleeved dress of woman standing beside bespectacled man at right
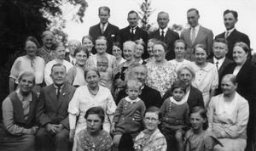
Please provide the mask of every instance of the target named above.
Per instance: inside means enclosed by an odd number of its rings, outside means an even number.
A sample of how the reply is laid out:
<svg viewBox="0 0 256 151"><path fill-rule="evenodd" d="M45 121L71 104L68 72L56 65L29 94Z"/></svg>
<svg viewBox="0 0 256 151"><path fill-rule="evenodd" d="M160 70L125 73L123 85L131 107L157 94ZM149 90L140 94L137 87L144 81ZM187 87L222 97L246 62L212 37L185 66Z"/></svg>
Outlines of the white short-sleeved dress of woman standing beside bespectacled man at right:
<svg viewBox="0 0 256 151"><path fill-rule="evenodd" d="M195 70L195 81L192 81L192 86L201 91L207 109L211 99L210 90L218 88L218 70L212 63L207 63L204 68L200 68L195 62L192 62L191 66Z"/></svg>

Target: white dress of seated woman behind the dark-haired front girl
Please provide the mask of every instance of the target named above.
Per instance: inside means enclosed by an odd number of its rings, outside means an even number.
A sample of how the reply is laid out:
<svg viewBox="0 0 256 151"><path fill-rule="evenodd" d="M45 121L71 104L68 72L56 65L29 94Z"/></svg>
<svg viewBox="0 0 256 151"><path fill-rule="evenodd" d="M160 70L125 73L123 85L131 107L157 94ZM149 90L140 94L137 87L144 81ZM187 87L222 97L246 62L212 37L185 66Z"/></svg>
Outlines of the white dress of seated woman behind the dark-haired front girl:
<svg viewBox="0 0 256 151"><path fill-rule="evenodd" d="M86 120L84 119L84 115L88 109L91 107L100 106L105 111L105 120L103 123L103 129L105 131L110 131L111 121L113 120L113 114L116 109L116 104L113 101L113 97L111 92L107 87L99 87L99 91L94 96L90 93L88 87L81 86L78 87L76 92L73 94L73 98L68 106L68 113L72 115L76 115L79 117L76 124L70 123L70 126L75 125L75 136L74 136L74 145L73 150L76 149L76 137L77 133L84 128L86 128ZM69 121L71 122L71 120ZM73 129L74 127L70 127Z"/></svg>

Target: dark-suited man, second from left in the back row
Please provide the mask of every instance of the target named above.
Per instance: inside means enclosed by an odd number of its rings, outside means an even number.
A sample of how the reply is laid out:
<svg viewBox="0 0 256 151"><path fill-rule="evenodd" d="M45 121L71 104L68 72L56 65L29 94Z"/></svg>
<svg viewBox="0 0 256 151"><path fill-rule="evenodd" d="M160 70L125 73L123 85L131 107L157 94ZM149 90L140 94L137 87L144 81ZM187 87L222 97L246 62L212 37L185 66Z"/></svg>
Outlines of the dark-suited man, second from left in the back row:
<svg viewBox="0 0 256 151"><path fill-rule="evenodd" d="M142 39L143 42L148 42L148 33L143 31L140 27L137 26L137 21L139 20L139 16L136 11L131 10L128 13L127 18L129 25L120 30L120 37L121 37L121 45L126 41L133 41L135 42L138 39ZM122 47L121 47L122 48ZM144 48L144 53L142 58L148 58L148 51L147 47Z"/></svg>

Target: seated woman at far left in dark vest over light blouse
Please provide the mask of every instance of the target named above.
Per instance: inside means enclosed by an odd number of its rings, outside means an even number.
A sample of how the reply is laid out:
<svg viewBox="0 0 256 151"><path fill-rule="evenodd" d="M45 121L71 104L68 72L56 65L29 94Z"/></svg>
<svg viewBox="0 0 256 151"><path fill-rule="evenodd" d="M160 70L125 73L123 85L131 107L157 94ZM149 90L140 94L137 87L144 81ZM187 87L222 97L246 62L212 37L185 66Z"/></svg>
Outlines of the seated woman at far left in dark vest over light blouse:
<svg viewBox="0 0 256 151"><path fill-rule="evenodd" d="M18 89L3 100L3 127L0 127L0 150L35 150L36 106L38 95L32 71L21 72Z"/></svg>

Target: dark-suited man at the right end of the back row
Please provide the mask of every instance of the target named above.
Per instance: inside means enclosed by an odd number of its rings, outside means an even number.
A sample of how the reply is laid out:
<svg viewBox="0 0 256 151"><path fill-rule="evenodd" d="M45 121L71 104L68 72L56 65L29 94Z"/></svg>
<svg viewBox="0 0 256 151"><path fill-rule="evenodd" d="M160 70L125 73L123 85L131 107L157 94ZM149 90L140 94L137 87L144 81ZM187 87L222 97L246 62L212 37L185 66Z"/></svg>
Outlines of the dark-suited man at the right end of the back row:
<svg viewBox="0 0 256 151"><path fill-rule="evenodd" d="M233 53L233 48L234 48L234 45L236 44L236 42L245 42L247 44L247 46L250 48L249 37L240 31L236 31L235 25L237 22L237 17L238 17L238 14L235 10L229 10L229 9L225 10L224 11L224 25L226 27L226 31L215 36L215 39L216 38L225 38L228 41L229 51L228 51L226 57L229 59L232 59L232 60L234 60L232 53Z"/></svg>

